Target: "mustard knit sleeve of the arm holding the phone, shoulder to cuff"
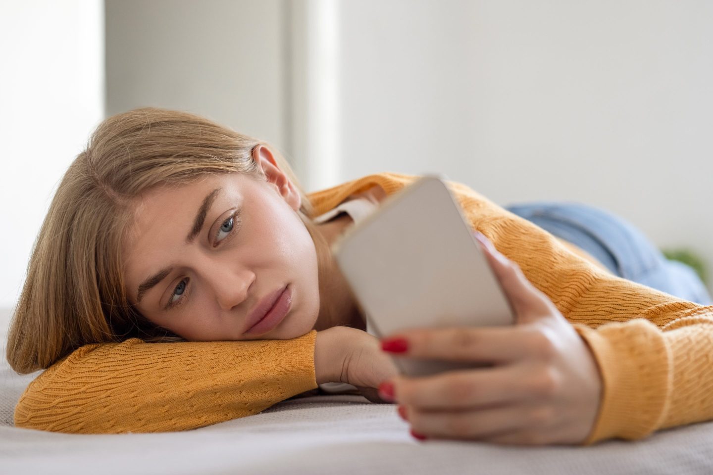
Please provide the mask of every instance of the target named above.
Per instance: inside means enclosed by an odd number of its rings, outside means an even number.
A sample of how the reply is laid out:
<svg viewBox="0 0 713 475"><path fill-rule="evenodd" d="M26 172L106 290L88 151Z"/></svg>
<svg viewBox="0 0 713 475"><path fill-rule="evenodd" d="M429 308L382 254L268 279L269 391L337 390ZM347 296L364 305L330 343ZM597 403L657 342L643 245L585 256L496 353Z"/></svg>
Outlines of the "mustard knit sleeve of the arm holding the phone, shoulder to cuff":
<svg viewBox="0 0 713 475"><path fill-rule="evenodd" d="M465 185L451 187L473 229L518 263L592 350L603 390L584 445L713 419L713 306L615 276Z"/></svg>

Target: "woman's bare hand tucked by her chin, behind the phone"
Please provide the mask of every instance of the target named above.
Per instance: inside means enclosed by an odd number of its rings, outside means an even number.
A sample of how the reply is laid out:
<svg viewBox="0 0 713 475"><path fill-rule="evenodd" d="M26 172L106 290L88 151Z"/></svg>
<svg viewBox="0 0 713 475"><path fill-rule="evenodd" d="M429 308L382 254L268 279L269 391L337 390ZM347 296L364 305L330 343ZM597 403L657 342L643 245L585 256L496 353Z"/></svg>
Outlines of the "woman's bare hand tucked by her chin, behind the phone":
<svg viewBox="0 0 713 475"><path fill-rule="evenodd" d="M317 384L346 382L359 388L371 402L381 400L377 388L381 382L399 375L394 360L381 350L373 335L352 327L332 327L317 332L314 350Z"/></svg>

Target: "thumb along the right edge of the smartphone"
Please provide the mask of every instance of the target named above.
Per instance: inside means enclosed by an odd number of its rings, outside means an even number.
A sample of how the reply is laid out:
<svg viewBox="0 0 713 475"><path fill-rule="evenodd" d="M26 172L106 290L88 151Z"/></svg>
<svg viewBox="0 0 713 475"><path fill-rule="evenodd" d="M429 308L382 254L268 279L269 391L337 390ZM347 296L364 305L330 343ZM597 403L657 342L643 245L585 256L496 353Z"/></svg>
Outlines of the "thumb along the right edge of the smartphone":
<svg viewBox="0 0 713 475"><path fill-rule="evenodd" d="M505 291L513 305L515 313L519 315L528 310L531 312L533 306L538 310L547 309L549 299L528 281L518 263L504 256L479 231L474 231L473 234L480 242L483 254L485 254L488 263L493 268L493 273L496 274L498 281L501 283L503 291Z"/></svg>

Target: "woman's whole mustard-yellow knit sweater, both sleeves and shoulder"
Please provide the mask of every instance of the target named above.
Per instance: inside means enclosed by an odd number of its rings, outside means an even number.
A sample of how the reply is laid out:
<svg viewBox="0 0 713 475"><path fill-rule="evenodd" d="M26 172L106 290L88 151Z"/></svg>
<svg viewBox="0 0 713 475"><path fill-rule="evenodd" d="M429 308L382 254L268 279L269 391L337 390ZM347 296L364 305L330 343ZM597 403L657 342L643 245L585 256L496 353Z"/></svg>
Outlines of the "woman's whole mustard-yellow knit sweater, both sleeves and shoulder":
<svg viewBox="0 0 713 475"><path fill-rule="evenodd" d="M374 184L392 194L416 178L373 174L308 197L322 214ZM473 229L520 265L592 349L603 391L585 445L713 419L713 306L614 276L465 185L448 186ZM316 335L86 345L29 385L15 424L56 432L161 432L257 414L317 387Z"/></svg>

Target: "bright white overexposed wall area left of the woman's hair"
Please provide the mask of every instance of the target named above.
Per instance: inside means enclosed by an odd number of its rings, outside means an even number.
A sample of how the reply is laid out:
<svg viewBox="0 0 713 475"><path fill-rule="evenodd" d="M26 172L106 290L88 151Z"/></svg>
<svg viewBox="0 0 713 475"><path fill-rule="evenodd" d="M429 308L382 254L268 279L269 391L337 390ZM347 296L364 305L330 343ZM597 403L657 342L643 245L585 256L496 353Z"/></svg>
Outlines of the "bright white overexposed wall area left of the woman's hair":
<svg viewBox="0 0 713 475"><path fill-rule="evenodd" d="M9 307L56 184L103 118L103 3L0 3L0 64L0 307Z"/></svg>

